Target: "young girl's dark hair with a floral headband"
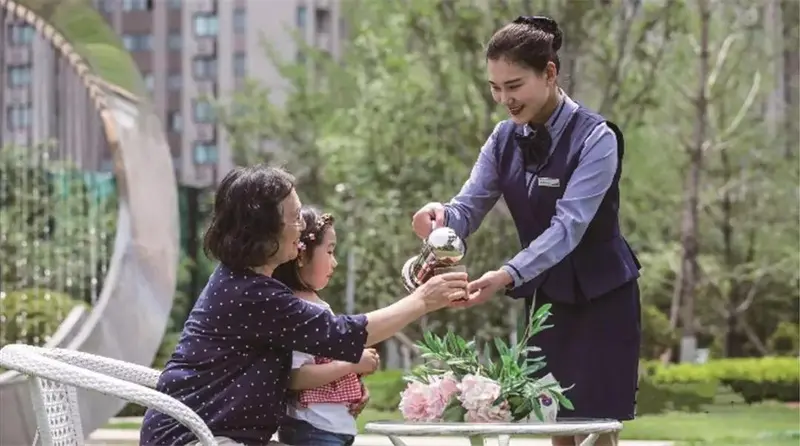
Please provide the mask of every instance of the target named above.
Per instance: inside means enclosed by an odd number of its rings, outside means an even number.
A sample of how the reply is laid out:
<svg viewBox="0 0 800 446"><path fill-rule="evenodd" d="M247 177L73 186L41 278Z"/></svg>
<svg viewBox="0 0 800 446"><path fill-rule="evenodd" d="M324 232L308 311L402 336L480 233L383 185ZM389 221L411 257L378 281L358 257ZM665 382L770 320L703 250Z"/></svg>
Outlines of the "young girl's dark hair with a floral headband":
<svg viewBox="0 0 800 446"><path fill-rule="evenodd" d="M300 209L300 217L306 224L306 229L300 234L300 242L304 246L304 260L309 262L314 258L314 249L322 244L325 231L333 226L334 220L331 214L323 214L311 206L303 206ZM314 291L300 279L299 260L300 256L278 265L272 272L272 278L282 282L292 291Z"/></svg>

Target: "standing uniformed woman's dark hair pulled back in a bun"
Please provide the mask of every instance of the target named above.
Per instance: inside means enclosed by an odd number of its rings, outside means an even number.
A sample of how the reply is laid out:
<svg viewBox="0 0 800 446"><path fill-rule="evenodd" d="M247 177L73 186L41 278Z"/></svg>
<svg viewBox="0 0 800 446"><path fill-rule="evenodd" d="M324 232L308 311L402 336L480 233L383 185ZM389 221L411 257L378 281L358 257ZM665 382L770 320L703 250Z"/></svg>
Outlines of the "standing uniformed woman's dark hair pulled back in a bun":
<svg viewBox="0 0 800 446"><path fill-rule="evenodd" d="M486 45L486 59L509 61L543 72L552 61L556 72L561 68L558 50L563 33L549 17L522 16L500 28Z"/></svg>

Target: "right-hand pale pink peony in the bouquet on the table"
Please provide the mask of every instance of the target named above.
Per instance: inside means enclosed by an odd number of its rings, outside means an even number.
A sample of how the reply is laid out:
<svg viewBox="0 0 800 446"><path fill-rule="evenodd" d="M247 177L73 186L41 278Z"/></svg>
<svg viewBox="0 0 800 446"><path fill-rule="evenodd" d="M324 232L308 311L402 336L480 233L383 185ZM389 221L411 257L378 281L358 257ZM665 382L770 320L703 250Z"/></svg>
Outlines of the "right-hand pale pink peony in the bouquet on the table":
<svg viewBox="0 0 800 446"><path fill-rule="evenodd" d="M464 415L465 421L488 423L511 420L511 411L506 401L494 405L501 391L500 384L496 381L483 376L467 375L458 387L461 391L458 399L467 411Z"/></svg>

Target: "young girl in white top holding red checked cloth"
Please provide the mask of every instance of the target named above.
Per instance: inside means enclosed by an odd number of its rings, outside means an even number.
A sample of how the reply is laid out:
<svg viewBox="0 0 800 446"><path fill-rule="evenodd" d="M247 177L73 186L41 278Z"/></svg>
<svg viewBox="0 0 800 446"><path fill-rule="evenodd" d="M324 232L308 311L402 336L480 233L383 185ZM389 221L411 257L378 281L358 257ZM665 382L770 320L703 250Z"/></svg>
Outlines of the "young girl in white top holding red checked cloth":
<svg viewBox="0 0 800 446"><path fill-rule="evenodd" d="M317 291L328 284L337 264L333 217L308 207L301 210L301 217L305 230L300 235L300 254L276 268L273 277L297 297L331 311ZM280 441L293 446L352 445L355 417L368 399L360 376L374 372L378 364L374 349L365 349L358 364L293 352L289 388L294 398L278 433Z"/></svg>

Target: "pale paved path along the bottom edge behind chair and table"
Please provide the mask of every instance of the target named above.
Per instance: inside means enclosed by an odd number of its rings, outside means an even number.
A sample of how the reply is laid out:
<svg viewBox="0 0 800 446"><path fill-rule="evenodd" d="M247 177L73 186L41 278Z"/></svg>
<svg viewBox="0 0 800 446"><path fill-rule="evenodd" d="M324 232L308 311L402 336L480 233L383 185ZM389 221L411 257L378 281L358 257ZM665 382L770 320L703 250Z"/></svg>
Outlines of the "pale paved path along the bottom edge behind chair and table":
<svg viewBox="0 0 800 446"><path fill-rule="evenodd" d="M469 446L469 441L465 438L455 437L406 437L408 446ZM89 445L115 445L132 446L139 443L139 431L135 429L99 429L89 437ZM496 445L493 441L487 446ZM550 440L514 438L511 440L512 446L550 446ZM353 446L392 446L388 438L379 435L359 435ZM620 446L673 446L670 441L636 441L624 440Z"/></svg>

